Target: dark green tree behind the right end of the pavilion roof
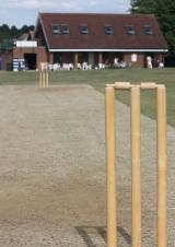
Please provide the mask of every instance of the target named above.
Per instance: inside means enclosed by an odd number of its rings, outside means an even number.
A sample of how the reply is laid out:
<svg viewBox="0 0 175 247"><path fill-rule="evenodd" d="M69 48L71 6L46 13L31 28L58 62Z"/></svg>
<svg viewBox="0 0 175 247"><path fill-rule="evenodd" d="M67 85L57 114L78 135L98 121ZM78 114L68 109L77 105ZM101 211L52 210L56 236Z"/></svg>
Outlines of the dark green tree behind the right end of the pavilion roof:
<svg viewBox="0 0 175 247"><path fill-rule="evenodd" d="M175 2L174 0L131 0L131 13L155 14L160 27L175 55Z"/></svg>

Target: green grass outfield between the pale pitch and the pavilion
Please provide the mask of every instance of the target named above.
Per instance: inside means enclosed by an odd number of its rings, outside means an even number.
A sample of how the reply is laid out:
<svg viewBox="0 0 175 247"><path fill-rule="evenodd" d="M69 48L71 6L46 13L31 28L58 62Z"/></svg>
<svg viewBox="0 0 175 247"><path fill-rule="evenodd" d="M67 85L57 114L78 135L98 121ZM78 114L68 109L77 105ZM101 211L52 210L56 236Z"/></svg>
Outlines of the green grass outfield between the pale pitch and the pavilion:
<svg viewBox="0 0 175 247"><path fill-rule="evenodd" d="M167 89L167 122L175 127L175 69L118 69L103 71L58 71L49 72L49 83L51 84L77 84L88 83L97 91L104 93L106 83L116 81L156 82L164 83ZM0 84L36 84L38 83L38 72L0 72ZM117 98L129 105L129 94L119 92ZM141 94L141 111L155 118L155 93L143 92Z"/></svg>

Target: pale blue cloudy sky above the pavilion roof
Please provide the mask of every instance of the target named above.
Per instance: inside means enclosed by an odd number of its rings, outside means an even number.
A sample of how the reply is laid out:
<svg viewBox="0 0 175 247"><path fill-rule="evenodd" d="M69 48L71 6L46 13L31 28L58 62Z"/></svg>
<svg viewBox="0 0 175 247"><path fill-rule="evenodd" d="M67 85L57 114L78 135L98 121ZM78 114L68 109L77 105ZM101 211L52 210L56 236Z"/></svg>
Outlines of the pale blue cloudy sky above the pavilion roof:
<svg viewBox="0 0 175 247"><path fill-rule="evenodd" d="M0 25L35 25L40 12L127 13L130 0L0 0Z"/></svg>

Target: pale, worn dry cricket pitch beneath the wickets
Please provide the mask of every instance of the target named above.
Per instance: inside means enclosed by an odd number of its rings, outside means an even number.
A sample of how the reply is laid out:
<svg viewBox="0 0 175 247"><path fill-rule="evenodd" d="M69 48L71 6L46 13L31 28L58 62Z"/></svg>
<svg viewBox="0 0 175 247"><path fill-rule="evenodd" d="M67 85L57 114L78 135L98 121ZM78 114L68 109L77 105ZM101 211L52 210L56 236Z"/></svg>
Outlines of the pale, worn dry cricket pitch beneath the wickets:
<svg viewBox="0 0 175 247"><path fill-rule="evenodd" d="M104 96L89 85L0 86L0 247L105 247ZM129 108L118 113L118 235L130 246ZM155 246L155 121L142 116L143 246ZM168 247L175 246L168 127Z"/></svg>

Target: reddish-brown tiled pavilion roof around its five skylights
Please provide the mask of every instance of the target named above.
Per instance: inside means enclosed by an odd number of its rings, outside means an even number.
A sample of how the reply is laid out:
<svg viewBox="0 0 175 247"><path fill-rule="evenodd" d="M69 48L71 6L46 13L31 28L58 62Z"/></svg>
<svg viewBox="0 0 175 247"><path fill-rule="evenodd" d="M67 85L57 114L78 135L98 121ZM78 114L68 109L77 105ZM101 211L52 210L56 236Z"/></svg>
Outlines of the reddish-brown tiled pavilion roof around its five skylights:
<svg viewBox="0 0 175 247"><path fill-rule="evenodd" d="M154 15L40 13L39 22L49 49L167 49ZM68 24L70 34L54 35L55 24ZM80 33L81 24L88 25L89 35ZM113 26L114 35L105 34L105 25ZM136 35L127 34L127 25L135 27ZM144 34L144 25L153 35Z"/></svg>

